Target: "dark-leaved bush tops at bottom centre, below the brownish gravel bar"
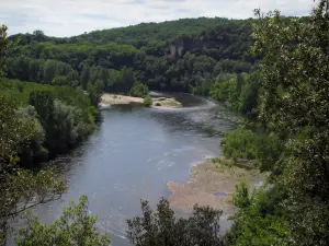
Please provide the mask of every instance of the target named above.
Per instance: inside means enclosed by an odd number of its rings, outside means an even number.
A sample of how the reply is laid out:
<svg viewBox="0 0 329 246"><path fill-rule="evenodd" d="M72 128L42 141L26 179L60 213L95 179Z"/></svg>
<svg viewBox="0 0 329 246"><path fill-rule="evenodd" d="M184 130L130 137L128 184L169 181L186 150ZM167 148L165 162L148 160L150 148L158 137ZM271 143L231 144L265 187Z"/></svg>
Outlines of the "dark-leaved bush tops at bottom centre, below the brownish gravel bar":
<svg viewBox="0 0 329 246"><path fill-rule="evenodd" d="M222 211L209 207L194 206L189 219L177 218L162 198L152 211L147 201L141 201L143 216L128 220L128 239L136 246L158 245L223 245L219 234Z"/></svg>

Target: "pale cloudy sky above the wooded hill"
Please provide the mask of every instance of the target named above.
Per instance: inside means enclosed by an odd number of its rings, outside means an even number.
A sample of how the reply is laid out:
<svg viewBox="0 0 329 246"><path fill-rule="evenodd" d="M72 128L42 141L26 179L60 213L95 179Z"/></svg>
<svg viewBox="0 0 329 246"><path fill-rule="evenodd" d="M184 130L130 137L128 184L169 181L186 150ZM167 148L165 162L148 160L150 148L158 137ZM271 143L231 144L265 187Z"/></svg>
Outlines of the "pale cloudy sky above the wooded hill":
<svg viewBox="0 0 329 246"><path fill-rule="evenodd" d="M302 16L313 5L313 0L0 0L0 24L9 27L10 35L42 30L48 36L67 37L140 22L248 19L258 8Z"/></svg>

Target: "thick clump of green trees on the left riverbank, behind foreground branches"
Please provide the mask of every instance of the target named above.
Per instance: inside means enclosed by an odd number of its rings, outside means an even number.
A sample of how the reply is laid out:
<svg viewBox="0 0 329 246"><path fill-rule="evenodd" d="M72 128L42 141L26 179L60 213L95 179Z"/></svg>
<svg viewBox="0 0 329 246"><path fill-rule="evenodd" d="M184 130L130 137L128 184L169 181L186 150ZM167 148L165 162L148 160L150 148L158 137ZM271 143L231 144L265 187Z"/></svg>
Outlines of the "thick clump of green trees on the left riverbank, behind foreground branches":
<svg viewBox="0 0 329 246"><path fill-rule="evenodd" d="M100 110L91 105L92 96L77 89L8 79L0 80L0 89L21 107L18 116L33 132L19 153L24 166L69 151L102 121Z"/></svg>

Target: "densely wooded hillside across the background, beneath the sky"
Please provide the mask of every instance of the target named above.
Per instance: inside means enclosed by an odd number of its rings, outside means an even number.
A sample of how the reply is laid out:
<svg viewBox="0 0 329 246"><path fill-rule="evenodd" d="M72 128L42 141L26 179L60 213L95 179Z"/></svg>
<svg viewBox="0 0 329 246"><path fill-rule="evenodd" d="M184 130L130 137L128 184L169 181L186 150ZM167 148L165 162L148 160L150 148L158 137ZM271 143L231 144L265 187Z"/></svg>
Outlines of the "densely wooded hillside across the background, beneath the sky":
<svg viewBox="0 0 329 246"><path fill-rule="evenodd" d="M251 21L185 19L97 31L71 38L36 32L19 37L11 79L128 93L136 81L152 90L207 94L224 73L251 72ZM78 78L79 74L79 78Z"/></svg>

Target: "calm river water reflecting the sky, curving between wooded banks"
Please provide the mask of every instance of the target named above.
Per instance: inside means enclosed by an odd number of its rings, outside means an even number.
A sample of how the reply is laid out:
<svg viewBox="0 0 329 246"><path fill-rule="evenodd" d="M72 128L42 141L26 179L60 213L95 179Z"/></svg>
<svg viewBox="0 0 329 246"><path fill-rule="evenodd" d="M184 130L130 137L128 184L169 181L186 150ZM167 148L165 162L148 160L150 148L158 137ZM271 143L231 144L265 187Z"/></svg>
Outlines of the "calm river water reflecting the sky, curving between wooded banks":
<svg viewBox="0 0 329 246"><path fill-rule="evenodd" d="M220 104L177 94L180 109L110 108L100 129L68 155L57 157L68 181L60 201L38 207L43 222L61 213L63 206L88 195L98 227L109 232L113 245L125 239L126 220L140 213L140 199L155 204L169 196L168 180L184 183L192 165L220 156L219 142L238 117Z"/></svg>

